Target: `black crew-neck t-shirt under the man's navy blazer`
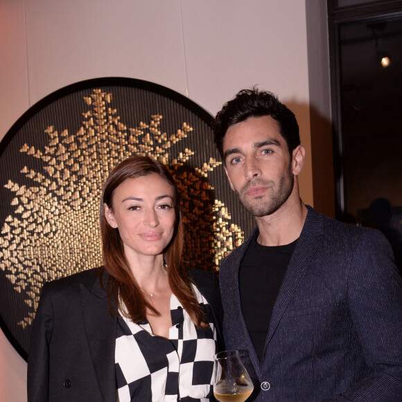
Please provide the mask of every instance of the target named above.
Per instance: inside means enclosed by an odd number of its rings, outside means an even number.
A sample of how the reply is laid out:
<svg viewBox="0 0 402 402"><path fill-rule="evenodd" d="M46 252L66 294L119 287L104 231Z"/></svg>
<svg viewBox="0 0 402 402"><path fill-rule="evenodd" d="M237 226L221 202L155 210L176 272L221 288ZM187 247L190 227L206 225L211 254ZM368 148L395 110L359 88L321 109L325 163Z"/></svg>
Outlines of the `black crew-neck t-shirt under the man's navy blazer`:
<svg viewBox="0 0 402 402"><path fill-rule="evenodd" d="M250 242L240 265L241 308L247 329L261 360L272 310L297 240L288 245L263 246Z"/></svg>

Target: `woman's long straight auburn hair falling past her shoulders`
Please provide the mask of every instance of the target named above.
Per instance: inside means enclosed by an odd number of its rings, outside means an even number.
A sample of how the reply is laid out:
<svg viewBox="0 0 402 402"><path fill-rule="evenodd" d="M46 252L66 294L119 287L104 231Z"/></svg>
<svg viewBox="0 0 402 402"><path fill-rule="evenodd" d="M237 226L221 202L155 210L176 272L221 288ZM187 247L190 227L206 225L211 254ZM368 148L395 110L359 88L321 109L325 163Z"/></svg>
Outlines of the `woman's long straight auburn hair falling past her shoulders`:
<svg viewBox="0 0 402 402"><path fill-rule="evenodd" d="M160 161L139 155L125 159L112 169L103 185L100 199L103 270L110 274L105 289L110 313L112 315L123 314L135 323L146 320L147 308L155 315L159 315L155 307L143 297L143 292L139 288L139 284L125 258L119 229L114 229L107 223L104 208L104 204L106 204L107 207L113 210L114 190L125 180L147 176L152 173L166 180L174 190L175 230L171 243L164 250L164 260L168 267L169 286L186 313L191 317L193 323L198 327L207 328L209 325L205 322L204 311L195 297L189 275L182 261L184 229L180 219L180 198L175 180L168 168ZM102 284L101 280L100 283Z"/></svg>

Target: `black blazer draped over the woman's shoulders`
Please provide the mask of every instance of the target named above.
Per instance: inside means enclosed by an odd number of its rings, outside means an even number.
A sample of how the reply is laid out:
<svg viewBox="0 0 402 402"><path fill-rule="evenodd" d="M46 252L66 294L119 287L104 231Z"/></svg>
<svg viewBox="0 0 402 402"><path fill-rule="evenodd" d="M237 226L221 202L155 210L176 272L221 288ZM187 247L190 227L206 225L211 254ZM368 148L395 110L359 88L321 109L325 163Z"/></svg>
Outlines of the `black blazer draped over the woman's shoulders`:
<svg viewBox="0 0 402 402"><path fill-rule="evenodd" d="M117 318L109 313L98 274L87 270L45 283L30 338L28 402L116 401ZM211 306L222 347L216 275L191 270L190 277Z"/></svg>

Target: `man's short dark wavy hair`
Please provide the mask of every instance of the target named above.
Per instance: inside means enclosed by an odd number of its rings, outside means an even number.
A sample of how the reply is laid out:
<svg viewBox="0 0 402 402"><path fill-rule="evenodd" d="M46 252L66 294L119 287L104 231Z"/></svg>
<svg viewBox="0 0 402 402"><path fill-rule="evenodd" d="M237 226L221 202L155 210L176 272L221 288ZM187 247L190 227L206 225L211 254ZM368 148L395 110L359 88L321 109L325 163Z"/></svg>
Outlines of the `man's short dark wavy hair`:
<svg viewBox="0 0 402 402"><path fill-rule="evenodd" d="M249 117L271 116L279 124L280 134L286 140L290 155L300 144L299 125L295 114L277 96L268 91L259 91L256 87L242 89L236 96L223 105L213 121L213 139L223 156L223 139L227 129L236 123L247 120Z"/></svg>

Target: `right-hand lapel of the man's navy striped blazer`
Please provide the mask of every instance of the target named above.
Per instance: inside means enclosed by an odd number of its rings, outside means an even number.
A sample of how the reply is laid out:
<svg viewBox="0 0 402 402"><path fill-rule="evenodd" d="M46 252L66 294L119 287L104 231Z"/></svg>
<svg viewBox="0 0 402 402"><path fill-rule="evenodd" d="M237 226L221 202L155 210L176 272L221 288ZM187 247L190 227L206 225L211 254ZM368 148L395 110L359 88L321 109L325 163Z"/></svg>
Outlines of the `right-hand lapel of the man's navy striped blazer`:
<svg viewBox="0 0 402 402"><path fill-rule="evenodd" d="M324 233L322 225L323 220L320 214L311 209L311 207L308 207L306 222L304 222L302 233L300 234L295 251L290 259L281 290L279 290L279 295L275 302L274 310L272 311L264 351L268 347L272 335L274 335L274 332L281 321L281 317L283 316L283 313L285 313L288 303L294 295L299 282L304 277L311 259L322 242L322 234Z"/></svg>

